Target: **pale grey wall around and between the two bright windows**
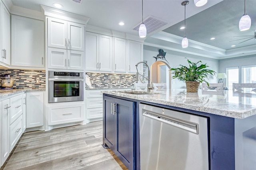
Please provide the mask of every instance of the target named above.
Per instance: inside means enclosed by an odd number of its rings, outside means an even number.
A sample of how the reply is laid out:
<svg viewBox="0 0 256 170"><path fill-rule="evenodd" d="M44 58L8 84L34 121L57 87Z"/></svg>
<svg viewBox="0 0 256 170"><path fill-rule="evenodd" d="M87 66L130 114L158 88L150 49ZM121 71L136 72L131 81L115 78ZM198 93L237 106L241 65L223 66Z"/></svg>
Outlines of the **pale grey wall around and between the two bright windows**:
<svg viewBox="0 0 256 170"><path fill-rule="evenodd" d="M221 59L219 61L219 72L226 72L227 67L238 66L239 83L242 83L242 66L255 65L255 64L256 64L256 55Z"/></svg>

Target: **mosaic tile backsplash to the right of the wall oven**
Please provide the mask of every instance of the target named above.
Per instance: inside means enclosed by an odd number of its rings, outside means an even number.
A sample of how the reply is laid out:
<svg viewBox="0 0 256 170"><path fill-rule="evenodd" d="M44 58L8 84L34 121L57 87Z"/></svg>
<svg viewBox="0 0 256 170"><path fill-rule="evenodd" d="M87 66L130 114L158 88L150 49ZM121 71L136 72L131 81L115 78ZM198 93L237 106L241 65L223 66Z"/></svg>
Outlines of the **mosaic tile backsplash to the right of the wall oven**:
<svg viewBox="0 0 256 170"><path fill-rule="evenodd" d="M92 87L133 87L136 74L95 73L86 72L90 77Z"/></svg>

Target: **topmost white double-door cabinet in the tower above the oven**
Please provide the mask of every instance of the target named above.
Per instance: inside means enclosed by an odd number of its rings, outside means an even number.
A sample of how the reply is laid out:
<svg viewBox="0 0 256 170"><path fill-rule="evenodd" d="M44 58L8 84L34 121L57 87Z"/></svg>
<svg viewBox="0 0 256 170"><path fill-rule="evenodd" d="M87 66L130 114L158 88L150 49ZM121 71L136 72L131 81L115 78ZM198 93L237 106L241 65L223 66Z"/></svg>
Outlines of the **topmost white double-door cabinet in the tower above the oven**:
<svg viewBox="0 0 256 170"><path fill-rule="evenodd" d="M48 18L48 47L84 51L84 25Z"/></svg>

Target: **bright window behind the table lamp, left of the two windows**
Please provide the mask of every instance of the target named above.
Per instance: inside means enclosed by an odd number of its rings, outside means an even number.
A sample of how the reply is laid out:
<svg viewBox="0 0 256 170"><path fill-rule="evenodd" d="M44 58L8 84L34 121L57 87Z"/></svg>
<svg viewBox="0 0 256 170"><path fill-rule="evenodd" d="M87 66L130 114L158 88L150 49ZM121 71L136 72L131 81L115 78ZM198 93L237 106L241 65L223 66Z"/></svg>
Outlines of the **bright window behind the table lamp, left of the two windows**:
<svg viewBox="0 0 256 170"><path fill-rule="evenodd" d="M227 87L229 90L233 89L233 83L239 83L239 70L238 67L226 68L227 74Z"/></svg>

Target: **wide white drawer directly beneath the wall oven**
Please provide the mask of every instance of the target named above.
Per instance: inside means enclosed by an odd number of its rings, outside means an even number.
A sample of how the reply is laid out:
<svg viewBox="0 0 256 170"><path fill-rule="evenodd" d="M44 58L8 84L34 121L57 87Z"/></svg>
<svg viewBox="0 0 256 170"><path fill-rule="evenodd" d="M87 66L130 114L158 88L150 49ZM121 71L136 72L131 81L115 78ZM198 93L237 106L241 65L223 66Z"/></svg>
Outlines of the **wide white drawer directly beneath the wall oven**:
<svg viewBox="0 0 256 170"><path fill-rule="evenodd" d="M48 124L58 125L64 123L72 123L84 120L84 106L72 106L72 107L49 107L48 108Z"/></svg>

